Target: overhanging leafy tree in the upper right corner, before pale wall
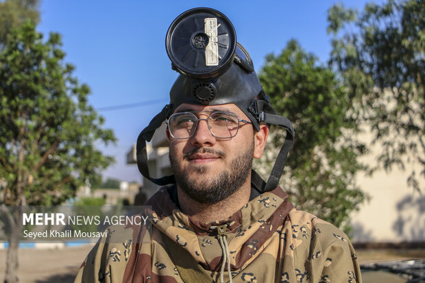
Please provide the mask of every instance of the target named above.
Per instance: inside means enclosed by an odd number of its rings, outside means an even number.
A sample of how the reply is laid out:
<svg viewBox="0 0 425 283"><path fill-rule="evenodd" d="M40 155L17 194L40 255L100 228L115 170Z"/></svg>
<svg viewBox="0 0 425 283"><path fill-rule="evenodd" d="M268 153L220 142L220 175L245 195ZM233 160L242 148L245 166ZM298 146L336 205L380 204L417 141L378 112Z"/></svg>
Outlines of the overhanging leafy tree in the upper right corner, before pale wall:
<svg viewBox="0 0 425 283"><path fill-rule="evenodd" d="M369 173L413 164L407 183L420 191L425 177L425 1L369 3L362 12L334 5L330 64L353 101L352 118L380 145ZM423 180L423 179L422 179Z"/></svg>

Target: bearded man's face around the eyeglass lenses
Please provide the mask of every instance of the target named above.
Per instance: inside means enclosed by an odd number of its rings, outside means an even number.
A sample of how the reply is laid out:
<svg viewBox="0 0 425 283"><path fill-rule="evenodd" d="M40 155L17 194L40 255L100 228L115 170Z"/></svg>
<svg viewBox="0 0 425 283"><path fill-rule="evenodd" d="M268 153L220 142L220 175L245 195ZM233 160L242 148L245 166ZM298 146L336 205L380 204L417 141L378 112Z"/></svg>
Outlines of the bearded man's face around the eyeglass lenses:
<svg viewBox="0 0 425 283"><path fill-rule="evenodd" d="M197 114L199 119L207 119L209 112L230 111L239 119L250 121L234 104L199 106L184 103L175 110L199 111L204 112ZM259 158L264 147L258 145L257 134L250 123L241 122L236 136L216 138L204 120L198 121L191 138L176 139L167 130L169 158L178 186L199 203L215 204L226 199L245 182L250 182L252 158Z"/></svg>

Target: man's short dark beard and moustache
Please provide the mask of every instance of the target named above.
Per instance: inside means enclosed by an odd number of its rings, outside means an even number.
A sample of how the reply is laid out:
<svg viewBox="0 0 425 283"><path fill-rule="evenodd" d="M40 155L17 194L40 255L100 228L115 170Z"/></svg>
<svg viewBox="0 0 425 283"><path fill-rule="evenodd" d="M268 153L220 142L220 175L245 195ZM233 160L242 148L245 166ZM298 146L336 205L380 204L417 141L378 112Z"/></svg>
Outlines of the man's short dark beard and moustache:
<svg viewBox="0 0 425 283"><path fill-rule="evenodd" d="M211 149L210 147L197 148L184 154L189 157L194 153L213 153L217 156L226 157L226 153ZM204 175L208 171L207 166L197 166L191 172L184 171L173 154L169 153L171 168L174 171L175 182L182 188L186 195L200 204L217 204L219 201L233 195L247 180L252 169L254 156L254 140L250 147L236 155L230 161L230 167L223 169L218 175ZM189 174L191 173L191 174ZM192 177L190 176L192 175Z"/></svg>

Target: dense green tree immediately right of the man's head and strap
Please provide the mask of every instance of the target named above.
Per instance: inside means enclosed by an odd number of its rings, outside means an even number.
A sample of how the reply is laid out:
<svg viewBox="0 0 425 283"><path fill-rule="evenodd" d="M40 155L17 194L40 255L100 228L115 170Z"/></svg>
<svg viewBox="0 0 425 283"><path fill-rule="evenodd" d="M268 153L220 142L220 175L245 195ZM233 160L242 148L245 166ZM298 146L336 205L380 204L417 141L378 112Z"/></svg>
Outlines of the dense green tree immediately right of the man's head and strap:
<svg viewBox="0 0 425 283"><path fill-rule="evenodd" d="M276 111L295 127L280 186L298 208L348 228L349 213L359 208L365 195L354 178L360 169L360 145L350 139L355 125L345 119L350 101L343 87L331 69L319 66L295 40L278 56L267 56L259 77ZM281 129L271 131L267 154L255 164L262 175L271 170L284 134Z"/></svg>

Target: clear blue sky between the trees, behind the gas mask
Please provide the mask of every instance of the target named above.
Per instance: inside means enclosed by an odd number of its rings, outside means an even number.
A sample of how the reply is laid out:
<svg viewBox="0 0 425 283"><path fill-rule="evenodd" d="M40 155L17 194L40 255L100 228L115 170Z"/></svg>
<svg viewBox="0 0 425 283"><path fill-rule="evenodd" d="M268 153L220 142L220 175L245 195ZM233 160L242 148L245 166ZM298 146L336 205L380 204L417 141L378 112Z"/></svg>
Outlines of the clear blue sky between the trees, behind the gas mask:
<svg viewBox="0 0 425 283"><path fill-rule="evenodd" d="M157 101L100 112L106 127L118 138L116 146L101 147L117 160L104 177L140 181L136 165L125 164L125 153L168 102L169 89L178 76L171 70L165 51L165 34L176 16L195 7L215 8L226 14L258 71L265 56L279 53L291 38L326 62L330 53L327 10L338 2L361 10L370 1L44 0L38 31L45 36L49 32L62 34L66 62L74 64L75 77L90 86L90 103L96 109Z"/></svg>

